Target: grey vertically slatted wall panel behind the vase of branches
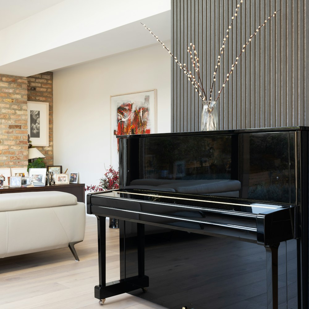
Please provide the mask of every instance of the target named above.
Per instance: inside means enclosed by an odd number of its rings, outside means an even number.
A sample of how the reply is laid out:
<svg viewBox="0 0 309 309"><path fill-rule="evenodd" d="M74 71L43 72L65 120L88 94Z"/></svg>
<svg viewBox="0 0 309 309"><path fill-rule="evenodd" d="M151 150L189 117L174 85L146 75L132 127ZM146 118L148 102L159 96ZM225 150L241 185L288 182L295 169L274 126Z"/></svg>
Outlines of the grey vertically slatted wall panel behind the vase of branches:
<svg viewBox="0 0 309 309"><path fill-rule="evenodd" d="M278 13L245 49L218 99L220 129L309 125L308 1L243 0L225 44L215 93L256 27L273 11ZM239 2L171 1L171 49L180 62L189 64L187 44L195 44L208 95L219 49ZM201 100L176 63L171 75L171 130L197 131Z"/></svg>

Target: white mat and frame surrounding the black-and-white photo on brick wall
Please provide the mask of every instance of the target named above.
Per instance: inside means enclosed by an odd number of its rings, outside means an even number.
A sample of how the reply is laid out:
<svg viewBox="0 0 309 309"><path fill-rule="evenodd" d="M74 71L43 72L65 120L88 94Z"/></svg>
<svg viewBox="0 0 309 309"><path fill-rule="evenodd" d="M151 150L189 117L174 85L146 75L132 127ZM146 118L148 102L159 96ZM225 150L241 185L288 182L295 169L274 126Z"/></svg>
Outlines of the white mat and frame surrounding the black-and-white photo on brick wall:
<svg viewBox="0 0 309 309"><path fill-rule="evenodd" d="M40 137L32 136L30 111L40 112ZM48 102L28 101L28 134L32 146L49 146L49 104Z"/></svg>

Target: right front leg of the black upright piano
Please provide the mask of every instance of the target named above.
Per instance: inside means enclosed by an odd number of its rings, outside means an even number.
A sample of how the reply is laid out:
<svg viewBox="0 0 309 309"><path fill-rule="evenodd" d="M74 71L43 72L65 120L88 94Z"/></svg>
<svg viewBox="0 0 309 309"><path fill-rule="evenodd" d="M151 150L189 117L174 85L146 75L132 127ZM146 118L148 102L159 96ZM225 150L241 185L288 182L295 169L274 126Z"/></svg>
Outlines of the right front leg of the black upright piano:
<svg viewBox="0 0 309 309"><path fill-rule="evenodd" d="M279 243L265 246L267 309L278 309L278 248Z"/></svg>

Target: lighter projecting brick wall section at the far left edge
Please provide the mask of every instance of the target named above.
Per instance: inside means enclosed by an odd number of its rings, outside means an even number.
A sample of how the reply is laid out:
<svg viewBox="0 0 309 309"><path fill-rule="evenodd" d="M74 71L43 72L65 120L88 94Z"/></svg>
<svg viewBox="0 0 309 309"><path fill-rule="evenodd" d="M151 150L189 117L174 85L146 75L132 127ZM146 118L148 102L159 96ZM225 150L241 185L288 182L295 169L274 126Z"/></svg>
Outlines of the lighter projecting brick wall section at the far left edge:
<svg viewBox="0 0 309 309"><path fill-rule="evenodd" d="M0 74L0 167L28 165L27 78Z"/></svg>

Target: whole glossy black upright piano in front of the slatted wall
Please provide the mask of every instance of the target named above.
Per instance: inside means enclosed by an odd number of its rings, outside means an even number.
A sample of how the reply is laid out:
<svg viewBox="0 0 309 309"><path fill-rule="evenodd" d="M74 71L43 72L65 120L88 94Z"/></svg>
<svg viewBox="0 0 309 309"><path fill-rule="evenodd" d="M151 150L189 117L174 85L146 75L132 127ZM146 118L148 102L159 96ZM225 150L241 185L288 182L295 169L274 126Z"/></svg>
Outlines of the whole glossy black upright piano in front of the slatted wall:
<svg viewBox="0 0 309 309"><path fill-rule="evenodd" d="M98 219L95 298L171 309L309 308L308 127L118 136L120 186ZM105 280L105 219L120 278Z"/></svg>

